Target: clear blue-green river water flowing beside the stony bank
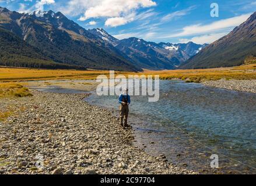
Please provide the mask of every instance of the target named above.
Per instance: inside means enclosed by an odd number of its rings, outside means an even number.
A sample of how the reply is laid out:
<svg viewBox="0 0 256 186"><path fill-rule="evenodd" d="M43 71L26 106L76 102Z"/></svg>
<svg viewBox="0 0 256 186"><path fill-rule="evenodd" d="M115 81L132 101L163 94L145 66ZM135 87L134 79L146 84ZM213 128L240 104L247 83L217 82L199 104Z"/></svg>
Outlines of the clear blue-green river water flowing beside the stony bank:
<svg viewBox="0 0 256 186"><path fill-rule="evenodd" d="M256 173L256 94L166 80L158 102L131 99L134 143L146 152L200 173ZM118 113L117 96L93 93L86 101Z"/></svg>

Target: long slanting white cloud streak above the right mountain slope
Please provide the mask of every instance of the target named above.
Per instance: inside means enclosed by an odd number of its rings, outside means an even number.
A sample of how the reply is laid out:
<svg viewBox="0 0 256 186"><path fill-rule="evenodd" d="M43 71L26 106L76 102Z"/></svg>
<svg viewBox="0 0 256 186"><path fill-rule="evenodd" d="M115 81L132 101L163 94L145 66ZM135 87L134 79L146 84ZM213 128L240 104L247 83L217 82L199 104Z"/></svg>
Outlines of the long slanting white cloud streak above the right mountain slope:
<svg viewBox="0 0 256 186"><path fill-rule="evenodd" d="M220 31L227 31L232 30L234 27L239 26L241 23L245 22L248 17L250 17L250 14L241 15L237 17L232 17L229 19L223 19L216 22L213 22L211 24L195 24L191 26L187 26L183 28L183 31L176 34L167 34L160 38L174 38L174 37L183 37L187 35L197 35L197 34L211 34L216 33Z"/></svg>

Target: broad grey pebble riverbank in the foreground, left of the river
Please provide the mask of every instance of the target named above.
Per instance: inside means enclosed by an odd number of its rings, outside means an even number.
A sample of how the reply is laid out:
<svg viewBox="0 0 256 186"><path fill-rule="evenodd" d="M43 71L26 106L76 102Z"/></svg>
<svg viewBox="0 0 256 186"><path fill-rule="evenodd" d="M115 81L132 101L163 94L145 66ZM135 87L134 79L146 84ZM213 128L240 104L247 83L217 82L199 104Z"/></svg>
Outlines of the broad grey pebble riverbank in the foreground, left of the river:
<svg viewBox="0 0 256 186"><path fill-rule="evenodd" d="M85 94L32 93L0 100L13 109L0 121L0 174L195 174L133 146L133 131Z"/></svg>

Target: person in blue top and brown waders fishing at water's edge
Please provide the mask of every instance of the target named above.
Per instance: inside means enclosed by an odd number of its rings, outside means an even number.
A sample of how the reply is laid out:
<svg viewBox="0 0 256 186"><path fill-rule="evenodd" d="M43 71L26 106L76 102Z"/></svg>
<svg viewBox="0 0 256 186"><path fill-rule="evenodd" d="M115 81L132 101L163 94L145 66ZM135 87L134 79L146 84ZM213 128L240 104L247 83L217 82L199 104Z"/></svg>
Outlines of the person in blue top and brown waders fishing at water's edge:
<svg viewBox="0 0 256 186"><path fill-rule="evenodd" d="M127 120L129 115L129 105L131 103L131 98L128 95L128 89L124 88L124 92L119 96L120 105L120 124L122 127L128 127ZM124 121L124 123L123 123Z"/></svg>

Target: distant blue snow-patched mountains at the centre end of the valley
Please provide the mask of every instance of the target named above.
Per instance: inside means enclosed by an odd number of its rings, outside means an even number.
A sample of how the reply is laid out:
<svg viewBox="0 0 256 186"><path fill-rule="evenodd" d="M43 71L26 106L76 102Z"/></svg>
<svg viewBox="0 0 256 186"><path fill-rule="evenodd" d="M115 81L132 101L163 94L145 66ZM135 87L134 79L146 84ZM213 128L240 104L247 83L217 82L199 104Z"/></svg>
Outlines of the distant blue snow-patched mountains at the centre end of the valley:
<svg viewBox="0 0 256 186"><path fill-rule="evenodd" d="M175 69L203 47L192 42L174 45L164 42L156 44L135 37L118 40L103 28L88 31L125 53L128 56L128 58L124 56L126 59L131 59L139 67L150 70Z"/></svg>

